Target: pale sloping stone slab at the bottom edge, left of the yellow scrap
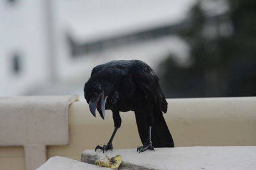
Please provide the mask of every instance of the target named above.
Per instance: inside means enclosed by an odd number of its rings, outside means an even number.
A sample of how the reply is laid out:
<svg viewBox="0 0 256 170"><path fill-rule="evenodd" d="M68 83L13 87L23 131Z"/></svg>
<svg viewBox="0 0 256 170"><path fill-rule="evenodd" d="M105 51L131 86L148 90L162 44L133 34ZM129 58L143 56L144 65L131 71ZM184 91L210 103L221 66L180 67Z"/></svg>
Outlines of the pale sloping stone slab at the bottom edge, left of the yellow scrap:
<svg viewBox="0 0 256 170"><path fill-rule="evenodd" d="M42 166L38 167L36 170L85 170L85 169L109 169L106 167L99 167L92 164L86 164L84 162L79 162L74 159L66 157L51 157Z"/></svg>

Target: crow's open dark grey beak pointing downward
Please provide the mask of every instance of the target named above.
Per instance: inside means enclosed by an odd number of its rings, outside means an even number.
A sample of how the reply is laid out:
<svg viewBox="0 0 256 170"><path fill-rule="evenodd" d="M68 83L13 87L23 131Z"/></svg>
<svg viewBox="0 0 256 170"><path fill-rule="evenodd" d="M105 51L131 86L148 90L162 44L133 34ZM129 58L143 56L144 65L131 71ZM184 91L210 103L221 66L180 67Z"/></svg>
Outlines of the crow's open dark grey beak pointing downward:
<svg viewBox="0 0 256 170"><path fill-rule="evenodd" d="M103 95L100 96L93 96L89 102L89 108L93 115L96 117L96 108L100 113L100 117L105 119L105 104L107 101L108 96L104 97Z"/></svg>

